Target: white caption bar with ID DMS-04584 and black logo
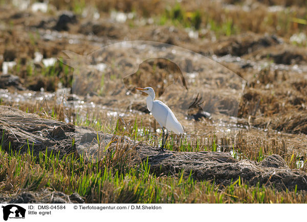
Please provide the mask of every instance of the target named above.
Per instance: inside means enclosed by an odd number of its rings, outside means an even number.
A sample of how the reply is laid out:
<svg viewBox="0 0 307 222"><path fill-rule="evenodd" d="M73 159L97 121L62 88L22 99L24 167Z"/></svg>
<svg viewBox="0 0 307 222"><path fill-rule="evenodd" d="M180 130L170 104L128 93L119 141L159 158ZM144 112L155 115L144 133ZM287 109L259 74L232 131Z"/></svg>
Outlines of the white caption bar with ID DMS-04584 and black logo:
<svg viewBox="0 0 307 222"><path fill-rule="evenodd" d="M7 221L290 221L304 204L0 204ZM287 213L289 212L289 213ZM296 213L295 218L303 218ZM20 220L19 220L20 219ZM98 220L99 219L99 220ZM2 220L3 221L3 220ZM303 220L302 220L303 221Z"/></svg>

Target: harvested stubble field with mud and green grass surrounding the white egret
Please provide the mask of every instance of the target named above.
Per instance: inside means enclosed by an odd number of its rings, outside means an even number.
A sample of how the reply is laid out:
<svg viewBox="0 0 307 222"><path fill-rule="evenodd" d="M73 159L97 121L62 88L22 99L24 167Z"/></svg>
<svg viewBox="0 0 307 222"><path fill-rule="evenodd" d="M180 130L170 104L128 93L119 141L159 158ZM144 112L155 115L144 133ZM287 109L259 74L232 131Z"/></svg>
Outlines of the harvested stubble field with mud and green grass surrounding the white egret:
<svg viewBox="0 0 307 222"><path fill-rule="evenodd" d="M0 0L0 202L307 203L305 1L64 2Z"/></svg>

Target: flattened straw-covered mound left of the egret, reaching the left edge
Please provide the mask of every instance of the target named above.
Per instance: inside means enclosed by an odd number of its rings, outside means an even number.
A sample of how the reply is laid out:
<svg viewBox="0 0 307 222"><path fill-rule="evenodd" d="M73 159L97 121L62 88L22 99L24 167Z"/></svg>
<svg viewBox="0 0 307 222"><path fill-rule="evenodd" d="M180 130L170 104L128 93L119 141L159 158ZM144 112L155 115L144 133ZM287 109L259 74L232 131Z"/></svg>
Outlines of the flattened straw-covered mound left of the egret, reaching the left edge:
<svg viewBox="0 0 307 222"><path fill-rule="evenodd" d="M28 147L33 147L35 155L47 149L48 152L59 154L60 158L69 153L95 154L99 147L97 136L104 144L113 138L111 134L97 132L89 127L43 119L10 106L0 106L0 135L5 150L12 148L23 153L28 152ZM74 140L75 144L72 145Z"/></svg>

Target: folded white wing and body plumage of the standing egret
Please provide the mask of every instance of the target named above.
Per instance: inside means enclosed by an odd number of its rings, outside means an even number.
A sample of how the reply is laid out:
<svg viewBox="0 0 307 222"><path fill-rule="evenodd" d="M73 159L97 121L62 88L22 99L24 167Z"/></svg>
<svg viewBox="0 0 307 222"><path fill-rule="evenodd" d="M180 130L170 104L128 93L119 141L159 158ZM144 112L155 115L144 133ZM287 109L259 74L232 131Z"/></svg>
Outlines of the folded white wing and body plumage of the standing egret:
<svg viewBox="0 0 307 222"><path fill-rule="evenodd" d="M153 101L151 113L159 124L164 126L167 130L173 131L175 134L183 134L182 125L177 120L172 110L162 101Z"/></svg>

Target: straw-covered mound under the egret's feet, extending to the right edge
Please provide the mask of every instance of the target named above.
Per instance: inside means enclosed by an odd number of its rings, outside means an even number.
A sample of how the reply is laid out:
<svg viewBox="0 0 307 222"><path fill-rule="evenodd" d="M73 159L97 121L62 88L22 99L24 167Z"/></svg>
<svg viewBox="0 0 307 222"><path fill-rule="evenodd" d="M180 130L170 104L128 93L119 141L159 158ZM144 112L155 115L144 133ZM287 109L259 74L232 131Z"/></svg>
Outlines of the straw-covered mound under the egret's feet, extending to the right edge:
<svg viewBox="0 0 307 222"><path fill-rule="evenodd" d="M237 161L224 152L172 152L159 153L150 147L137 147L141 160L150 164L151 172L177 175L184 170L191 172L198 181L211 180L229 185L232 181L244 180L249 185L271 185L278 190L307 190L307 174L291 170L284 160L274 154L260 163L249 160Z"/></svg>

